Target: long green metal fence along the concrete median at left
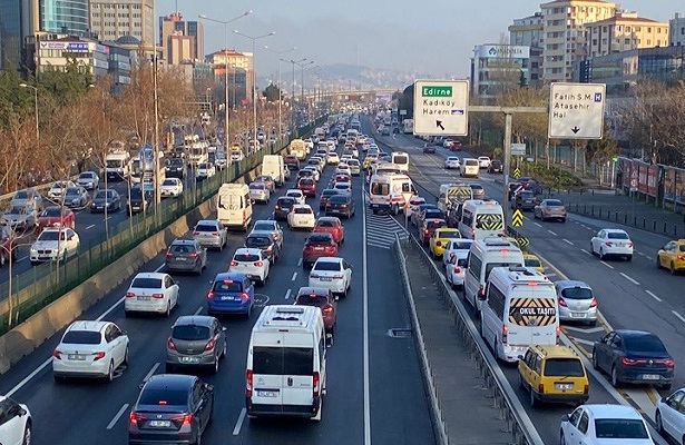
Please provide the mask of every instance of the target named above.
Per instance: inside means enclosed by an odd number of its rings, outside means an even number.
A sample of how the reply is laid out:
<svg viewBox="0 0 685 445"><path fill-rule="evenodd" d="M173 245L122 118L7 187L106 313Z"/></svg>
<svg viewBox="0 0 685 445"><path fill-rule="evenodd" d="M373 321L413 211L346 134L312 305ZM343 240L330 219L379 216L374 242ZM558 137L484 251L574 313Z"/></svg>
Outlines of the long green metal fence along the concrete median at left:
<svg viewBox="0 0 685 445"><path fill-rule="evenodd" d="M312 131L326 116L301 127L295 135ZM0 335L28 319L31 315L55 301L76 286L120 258L149 236L165 229L173 221L211 199L224 182L233 182L262 164L264 155L273 155L287 147L292 138L280 145L270 145L239 162L231 164L221 174L208 178L195 188L184 191L182 198L165 199L145 214L127 218L109 233L81 246L77 256L62 263L45 263L23 274L12 276L7 286L0 287ZM102 230L104 231L104 230ZM11 286L10 286L11 283ZM10 288L11 287L11 288ZM8 297L11 296L11 313Z"/></svg>

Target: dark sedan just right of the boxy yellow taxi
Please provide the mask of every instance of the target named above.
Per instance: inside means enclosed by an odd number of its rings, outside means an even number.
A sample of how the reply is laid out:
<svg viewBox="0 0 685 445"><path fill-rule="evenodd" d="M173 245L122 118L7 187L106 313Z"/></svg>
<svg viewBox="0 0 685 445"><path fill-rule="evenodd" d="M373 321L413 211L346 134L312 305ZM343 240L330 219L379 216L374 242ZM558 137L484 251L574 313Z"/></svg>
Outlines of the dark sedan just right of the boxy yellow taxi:
<svg viewBox="0 0 685 445"><path fill-rule="evenodd" d="M669 389L675 360L656 335L645 330L617 329L593 347L593 366L611 378L611 385L643 383Z"/></svg>

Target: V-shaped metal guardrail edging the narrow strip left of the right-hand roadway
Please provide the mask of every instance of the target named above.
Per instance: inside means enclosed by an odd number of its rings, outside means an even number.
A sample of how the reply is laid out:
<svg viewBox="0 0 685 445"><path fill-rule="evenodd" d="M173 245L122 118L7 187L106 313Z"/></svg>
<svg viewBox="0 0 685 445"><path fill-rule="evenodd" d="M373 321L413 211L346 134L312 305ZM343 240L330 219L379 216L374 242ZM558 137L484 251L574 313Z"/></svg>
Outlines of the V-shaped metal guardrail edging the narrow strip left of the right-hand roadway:
<svg viewBox="0 0 685 445"><path fill-rule="evenodd" d="M411 289L407 288L409 278L404 265L404 256L402 250L403 247L420 253L421 260L423 261L424 266L430 270L430 274L440 290L439 297L450 310L450 314L452 315L454 322L454 326L460 334L462 343L469 349L471 358L476 360L480 369L481 377L483 378L487 387L491 390L495 408L498 409L500 418L505 421L507 423L507 426L509 427L509 432L511 433L511 443L517 445L544 445L542 438L535 429L535 425L526 414L521 402L513 394L511 385L509 385L501 368L497 365L496 359L492 357L492 355L486 353L488 346L480 337L476 325L467 313L467 309L462 306L461 301L459 301L454 291L448 287L444 277L440 274L434 263L425 254L425 251L418 246L415 240L413 240L412 238L408 238L407 241L400 243L399 237L395 236L393 248L395 250L400 269L402 270L402 276L405 278L405 290L408 291L408 299L412 300L412 297ZM412 323L418 324L413 304L410 303L410 307L412 312ZM422 337L420 342L422 343ZM422 360L427 360L424 347L422 346L422 348L420 349ZM432 376L429 374L427 376L427 379L428 382L431 382ZM438 425L438 428L444 431L444 437L446 439L448 439L447 429L444 427L442 417L440 417L441 414L439 398L437 397L437 393L432 383L430 384L429 393L431 393L431 402L436 404L434 409L437 415L439 416L437 417L437 419L439 421L438 423L442 424L442 426ZM439 438L442 438L442 434L439 435ZM447 442L441 442L441 444L447 444Z"/></svg>

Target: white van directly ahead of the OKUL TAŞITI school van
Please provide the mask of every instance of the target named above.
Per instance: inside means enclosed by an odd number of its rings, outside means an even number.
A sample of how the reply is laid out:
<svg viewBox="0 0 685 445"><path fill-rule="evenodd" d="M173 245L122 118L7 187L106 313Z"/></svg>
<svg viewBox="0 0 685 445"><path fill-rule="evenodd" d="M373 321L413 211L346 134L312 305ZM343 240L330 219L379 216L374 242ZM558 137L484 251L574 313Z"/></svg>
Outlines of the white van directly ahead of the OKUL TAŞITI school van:
<svg viewBox="0 0 685 445"><path fill-rule="evenodd" d="M463 298L481 310L486 299L486 284L495 267L523 266L521 249L503 238L488 237L471 244Z"/></svg>

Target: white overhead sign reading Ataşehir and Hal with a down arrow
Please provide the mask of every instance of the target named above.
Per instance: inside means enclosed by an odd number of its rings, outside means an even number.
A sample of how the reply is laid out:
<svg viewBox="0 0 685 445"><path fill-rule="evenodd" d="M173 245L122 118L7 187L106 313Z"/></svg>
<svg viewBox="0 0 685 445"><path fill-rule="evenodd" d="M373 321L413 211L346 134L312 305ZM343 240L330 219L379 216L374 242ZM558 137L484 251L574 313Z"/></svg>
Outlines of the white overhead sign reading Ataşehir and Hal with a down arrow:
<svg viewBox="0 0 685 445"><path fill-rule="evenodd" d="M604 83L551 83L548 137L601 139L605 98Z"/></svg>

